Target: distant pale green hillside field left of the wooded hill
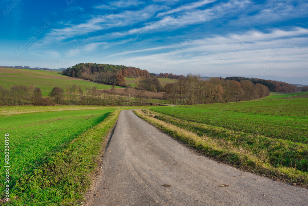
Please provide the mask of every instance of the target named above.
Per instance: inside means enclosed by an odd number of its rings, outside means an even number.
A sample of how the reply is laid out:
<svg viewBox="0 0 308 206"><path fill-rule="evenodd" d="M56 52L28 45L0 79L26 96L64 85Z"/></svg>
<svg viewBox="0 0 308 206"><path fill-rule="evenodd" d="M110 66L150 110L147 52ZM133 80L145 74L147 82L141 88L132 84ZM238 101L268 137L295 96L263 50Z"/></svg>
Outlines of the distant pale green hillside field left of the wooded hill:
<svg viewBox="0 0 308 206"><path fill-rule="evenodd" d="M25 86L35 85L41 90L48 91L51 91L55 86L64 89L67 85L72 86L73 84L77 84L83 90L92 86L96 86L98 89L110 89L112 87L111 85L97 84L86 80L63 76L57 72L0 68L0 85L3 87L10 87L15 84L22 84ZM43 96L47 96L48 91L42 91Z"/></svg>

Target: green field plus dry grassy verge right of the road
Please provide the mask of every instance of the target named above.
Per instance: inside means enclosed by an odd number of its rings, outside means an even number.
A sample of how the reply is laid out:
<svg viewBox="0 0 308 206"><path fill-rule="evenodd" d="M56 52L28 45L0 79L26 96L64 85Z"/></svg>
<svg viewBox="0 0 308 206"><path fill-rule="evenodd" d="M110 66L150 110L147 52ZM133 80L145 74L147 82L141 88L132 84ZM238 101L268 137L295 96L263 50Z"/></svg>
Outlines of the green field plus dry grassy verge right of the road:
<svg viewBox="0 0 308 206"><path fill-rule="evenodd" d="M308 188L308 99L161 107L135 113L217 160Z"/></svg>

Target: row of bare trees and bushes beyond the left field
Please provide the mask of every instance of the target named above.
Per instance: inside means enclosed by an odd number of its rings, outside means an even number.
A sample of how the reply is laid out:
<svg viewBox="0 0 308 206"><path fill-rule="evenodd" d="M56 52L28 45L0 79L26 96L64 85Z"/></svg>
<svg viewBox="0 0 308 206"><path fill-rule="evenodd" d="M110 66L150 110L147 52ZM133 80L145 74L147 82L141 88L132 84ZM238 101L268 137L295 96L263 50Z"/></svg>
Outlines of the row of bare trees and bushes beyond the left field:
<svg viewBox="0 0 308 206"><path fill-rule="evenodd" d="M48 97L43 97L41 89L33 85L0 86L0 105L153 105L145 96L145 90L135 90L128 86L122 95L116 95L115 85L110 90L100 90L93 86L84 91L76 84L64 89L54 87Z"/></svg>

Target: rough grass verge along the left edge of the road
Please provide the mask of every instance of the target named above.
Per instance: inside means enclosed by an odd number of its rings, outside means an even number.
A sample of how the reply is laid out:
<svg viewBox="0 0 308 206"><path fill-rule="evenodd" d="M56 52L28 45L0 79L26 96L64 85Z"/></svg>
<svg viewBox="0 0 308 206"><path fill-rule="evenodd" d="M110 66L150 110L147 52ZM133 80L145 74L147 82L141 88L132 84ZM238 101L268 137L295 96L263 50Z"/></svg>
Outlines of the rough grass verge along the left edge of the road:
<svg viewBox="0 0 308 206"><path fill-rule="evenodd" d="M79 205L91 186L102 143L115 125L120 110L50 153L42 163L20 176L11 188L7 205Z"/></svg>

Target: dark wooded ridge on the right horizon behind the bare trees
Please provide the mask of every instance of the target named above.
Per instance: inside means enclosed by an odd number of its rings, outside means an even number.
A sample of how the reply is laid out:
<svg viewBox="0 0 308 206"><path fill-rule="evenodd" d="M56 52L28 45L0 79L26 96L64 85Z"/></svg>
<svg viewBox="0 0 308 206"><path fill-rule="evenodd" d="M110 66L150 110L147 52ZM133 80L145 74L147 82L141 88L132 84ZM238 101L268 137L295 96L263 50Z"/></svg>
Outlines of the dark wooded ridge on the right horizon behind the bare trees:
<svg viewBox="0 0 308 206"><path fill-rule="evenodd" d="M238 82L241 82L243 80L250 80L253 82L253 84L259 83L267 86L271 92L294 93L298 91L297 87L294 86L293 84L288 84L286 82L281 82L281 81L247 78L241 76L230 76L226 77L225 80L235 80Z"/></svg>

